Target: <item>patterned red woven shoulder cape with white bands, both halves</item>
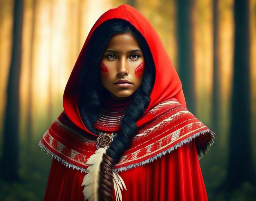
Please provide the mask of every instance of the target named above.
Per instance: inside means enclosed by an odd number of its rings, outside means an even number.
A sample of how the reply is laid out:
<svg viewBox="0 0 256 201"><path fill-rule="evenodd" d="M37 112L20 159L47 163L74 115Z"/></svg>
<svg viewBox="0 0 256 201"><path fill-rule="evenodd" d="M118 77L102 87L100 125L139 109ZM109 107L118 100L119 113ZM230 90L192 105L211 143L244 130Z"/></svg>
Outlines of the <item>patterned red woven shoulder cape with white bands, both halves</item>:
<svg viewBox="0 0 256 201"><path fill-rule="evenodd" d="M193 138L200 158L213 144L215 134L175 98L161 102L146 115L154 120L138 129L131 146L114 165L117 172L151 162ZM78 129L64 111L39 142L48 154L82 172L86 172L85 163L96 145L97 138Z"/></svg>

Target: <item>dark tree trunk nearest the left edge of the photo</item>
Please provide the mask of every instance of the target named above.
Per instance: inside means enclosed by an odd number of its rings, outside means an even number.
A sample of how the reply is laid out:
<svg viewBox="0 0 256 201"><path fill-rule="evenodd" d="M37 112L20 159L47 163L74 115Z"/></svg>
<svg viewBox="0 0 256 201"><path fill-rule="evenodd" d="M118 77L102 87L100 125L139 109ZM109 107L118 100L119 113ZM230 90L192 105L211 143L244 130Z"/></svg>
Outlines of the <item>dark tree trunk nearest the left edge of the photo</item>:
<svg viewBox="0 0 256 201"><path fill-rule="evenodd" d="M12 57L7 84L7 101L3 128L3 155L1 158L1 174L8 181L19 180L19 81L22 25L23 1L16 0L14 5Z"/></svg>

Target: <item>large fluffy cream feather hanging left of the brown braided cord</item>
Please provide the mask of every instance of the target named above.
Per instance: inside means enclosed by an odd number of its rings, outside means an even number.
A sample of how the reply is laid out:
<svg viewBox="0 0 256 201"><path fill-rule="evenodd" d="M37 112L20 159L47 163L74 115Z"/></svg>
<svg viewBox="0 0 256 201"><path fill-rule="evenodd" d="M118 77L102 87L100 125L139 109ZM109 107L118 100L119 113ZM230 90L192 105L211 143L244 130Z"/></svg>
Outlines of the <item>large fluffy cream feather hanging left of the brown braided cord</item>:
<svg viewBox="0 0 256 201"><path fill-rule="evenodd" d="M95 151L95 154L91 155L86 164L90 165L86 170L86 174L83 178L81 186L85 186L83 189L84 201L98 201L99 200L99 177L100 177L100 164L103 160L103 154L106 153L104 147Z"/></svg>

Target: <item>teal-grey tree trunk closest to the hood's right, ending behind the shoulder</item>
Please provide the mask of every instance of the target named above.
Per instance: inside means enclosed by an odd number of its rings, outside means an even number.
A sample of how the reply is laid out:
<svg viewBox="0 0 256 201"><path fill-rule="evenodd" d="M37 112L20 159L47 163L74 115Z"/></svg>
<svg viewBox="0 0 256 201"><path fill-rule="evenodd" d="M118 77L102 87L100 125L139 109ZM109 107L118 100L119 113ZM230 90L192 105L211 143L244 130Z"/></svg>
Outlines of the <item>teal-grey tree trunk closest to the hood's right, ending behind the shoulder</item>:
<svg viewBox="0 0 256 201"><path fill-rule="evenodd" d="M187 109L195 114L194 54L191 18L191 1L177 1L179 77L181 79L185 99L187 100Z"/></svg>

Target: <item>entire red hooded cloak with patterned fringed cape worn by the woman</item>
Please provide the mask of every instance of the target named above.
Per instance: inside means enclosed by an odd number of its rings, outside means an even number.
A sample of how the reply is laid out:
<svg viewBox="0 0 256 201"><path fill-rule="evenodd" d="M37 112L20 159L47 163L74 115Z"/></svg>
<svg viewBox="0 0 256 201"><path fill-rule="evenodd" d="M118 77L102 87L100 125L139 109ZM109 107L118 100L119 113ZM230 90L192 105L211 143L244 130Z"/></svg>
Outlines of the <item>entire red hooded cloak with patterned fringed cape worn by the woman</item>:
<svg viewBox="0 0 256 201"><path fill-rule="evenodd" d="M65 87L64 111L39 142L53 157L44 200L84 198L81 183L99 135L83 124L75 92L94 30L114 18L143 35L156 71L149 105L136 122L138 133L114 164L127 187L123 200L207 200L198 156L213 144L215 134L187 110L179 76L153 26L126 4L108 10L93 25Z"/></svg>

